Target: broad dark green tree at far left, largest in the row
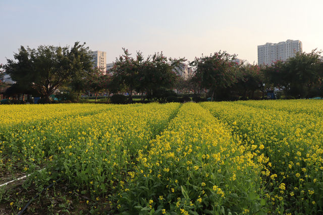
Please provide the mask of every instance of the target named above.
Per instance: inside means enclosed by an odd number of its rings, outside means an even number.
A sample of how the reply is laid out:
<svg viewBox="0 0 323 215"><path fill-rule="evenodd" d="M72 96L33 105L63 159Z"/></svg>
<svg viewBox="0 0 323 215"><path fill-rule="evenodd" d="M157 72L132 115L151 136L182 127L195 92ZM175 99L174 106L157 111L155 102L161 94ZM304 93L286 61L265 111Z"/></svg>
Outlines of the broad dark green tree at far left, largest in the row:
<svg viewBox="0 0 323 215"><path fill-rule="evenodd" d="M92 68L91 57L85 43L69 46L38 46L37 49L21 46L14 60L7 60L6 71L14 81L31 84L46 102L49 95L73 77L82 76Z"/></svg>

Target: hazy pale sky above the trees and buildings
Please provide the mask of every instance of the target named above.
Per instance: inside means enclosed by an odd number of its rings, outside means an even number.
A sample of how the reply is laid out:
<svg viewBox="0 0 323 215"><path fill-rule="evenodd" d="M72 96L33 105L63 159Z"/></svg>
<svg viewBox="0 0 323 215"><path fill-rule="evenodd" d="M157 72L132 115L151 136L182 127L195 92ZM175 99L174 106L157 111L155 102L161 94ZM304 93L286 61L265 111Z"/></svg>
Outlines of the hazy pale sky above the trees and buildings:
<svg viewBox="0 0 323 215"><path fill-rule="evenodd" d="M323 49L323 1L10 1L0 0L0 64L20 45L86 42L107 53L122 47L192 61L226 50L257 63L257 45L300 40Z"/></svg>

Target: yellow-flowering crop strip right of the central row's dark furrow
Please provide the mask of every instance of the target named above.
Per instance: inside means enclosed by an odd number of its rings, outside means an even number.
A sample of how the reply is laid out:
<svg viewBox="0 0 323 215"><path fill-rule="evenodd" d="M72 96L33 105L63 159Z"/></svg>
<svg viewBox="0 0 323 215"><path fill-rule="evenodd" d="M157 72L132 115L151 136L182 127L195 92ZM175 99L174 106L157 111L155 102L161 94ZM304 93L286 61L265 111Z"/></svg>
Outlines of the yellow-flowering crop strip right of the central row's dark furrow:
<svg viewBox="0 0 323 215"><path fill-rule="evenodd" d="M269 102L272 108L254 108L233 102L202 103L213 116L226 122L243 140L246 148L262 149L269 158L265 177L268 201L278 212L322 212L323 205L323 121L316 114L307 114L311 104L300 102L300 113L275 110L285 101ZM290 103L290 101L286 101ZM307 107L307 108L306 108ZM314 112L314 110L313 110Z"/></svg>

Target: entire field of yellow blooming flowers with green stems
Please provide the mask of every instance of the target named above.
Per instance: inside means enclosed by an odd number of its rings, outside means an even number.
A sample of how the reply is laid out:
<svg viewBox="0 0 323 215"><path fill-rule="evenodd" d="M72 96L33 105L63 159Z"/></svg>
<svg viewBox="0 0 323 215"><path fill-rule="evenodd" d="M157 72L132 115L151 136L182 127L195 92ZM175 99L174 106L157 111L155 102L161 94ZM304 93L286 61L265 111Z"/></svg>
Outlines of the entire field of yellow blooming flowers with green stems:
<svg viewBox="0 0 323 215"><path fill-rule="evenodd" d="M321 214L322 105L0 105L0 214Z"/></svg>

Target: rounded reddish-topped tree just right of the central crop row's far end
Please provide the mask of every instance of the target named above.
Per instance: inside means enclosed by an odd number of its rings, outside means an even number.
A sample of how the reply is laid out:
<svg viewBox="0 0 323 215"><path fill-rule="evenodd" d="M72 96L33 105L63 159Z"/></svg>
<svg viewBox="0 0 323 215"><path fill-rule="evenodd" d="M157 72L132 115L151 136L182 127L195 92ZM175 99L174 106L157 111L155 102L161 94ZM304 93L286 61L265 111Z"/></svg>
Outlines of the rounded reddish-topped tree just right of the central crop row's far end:
<svg viewBox="0 0 323 215"><path fill-rule="evenodd" d="M216 93L230 87L237 81L237 66L232 62L236 55L230 55L226 51L215 52L213 55L195 58L190 66L195 68L194 75L200 81L202 87L209 90L211 101Z"/></svg>

